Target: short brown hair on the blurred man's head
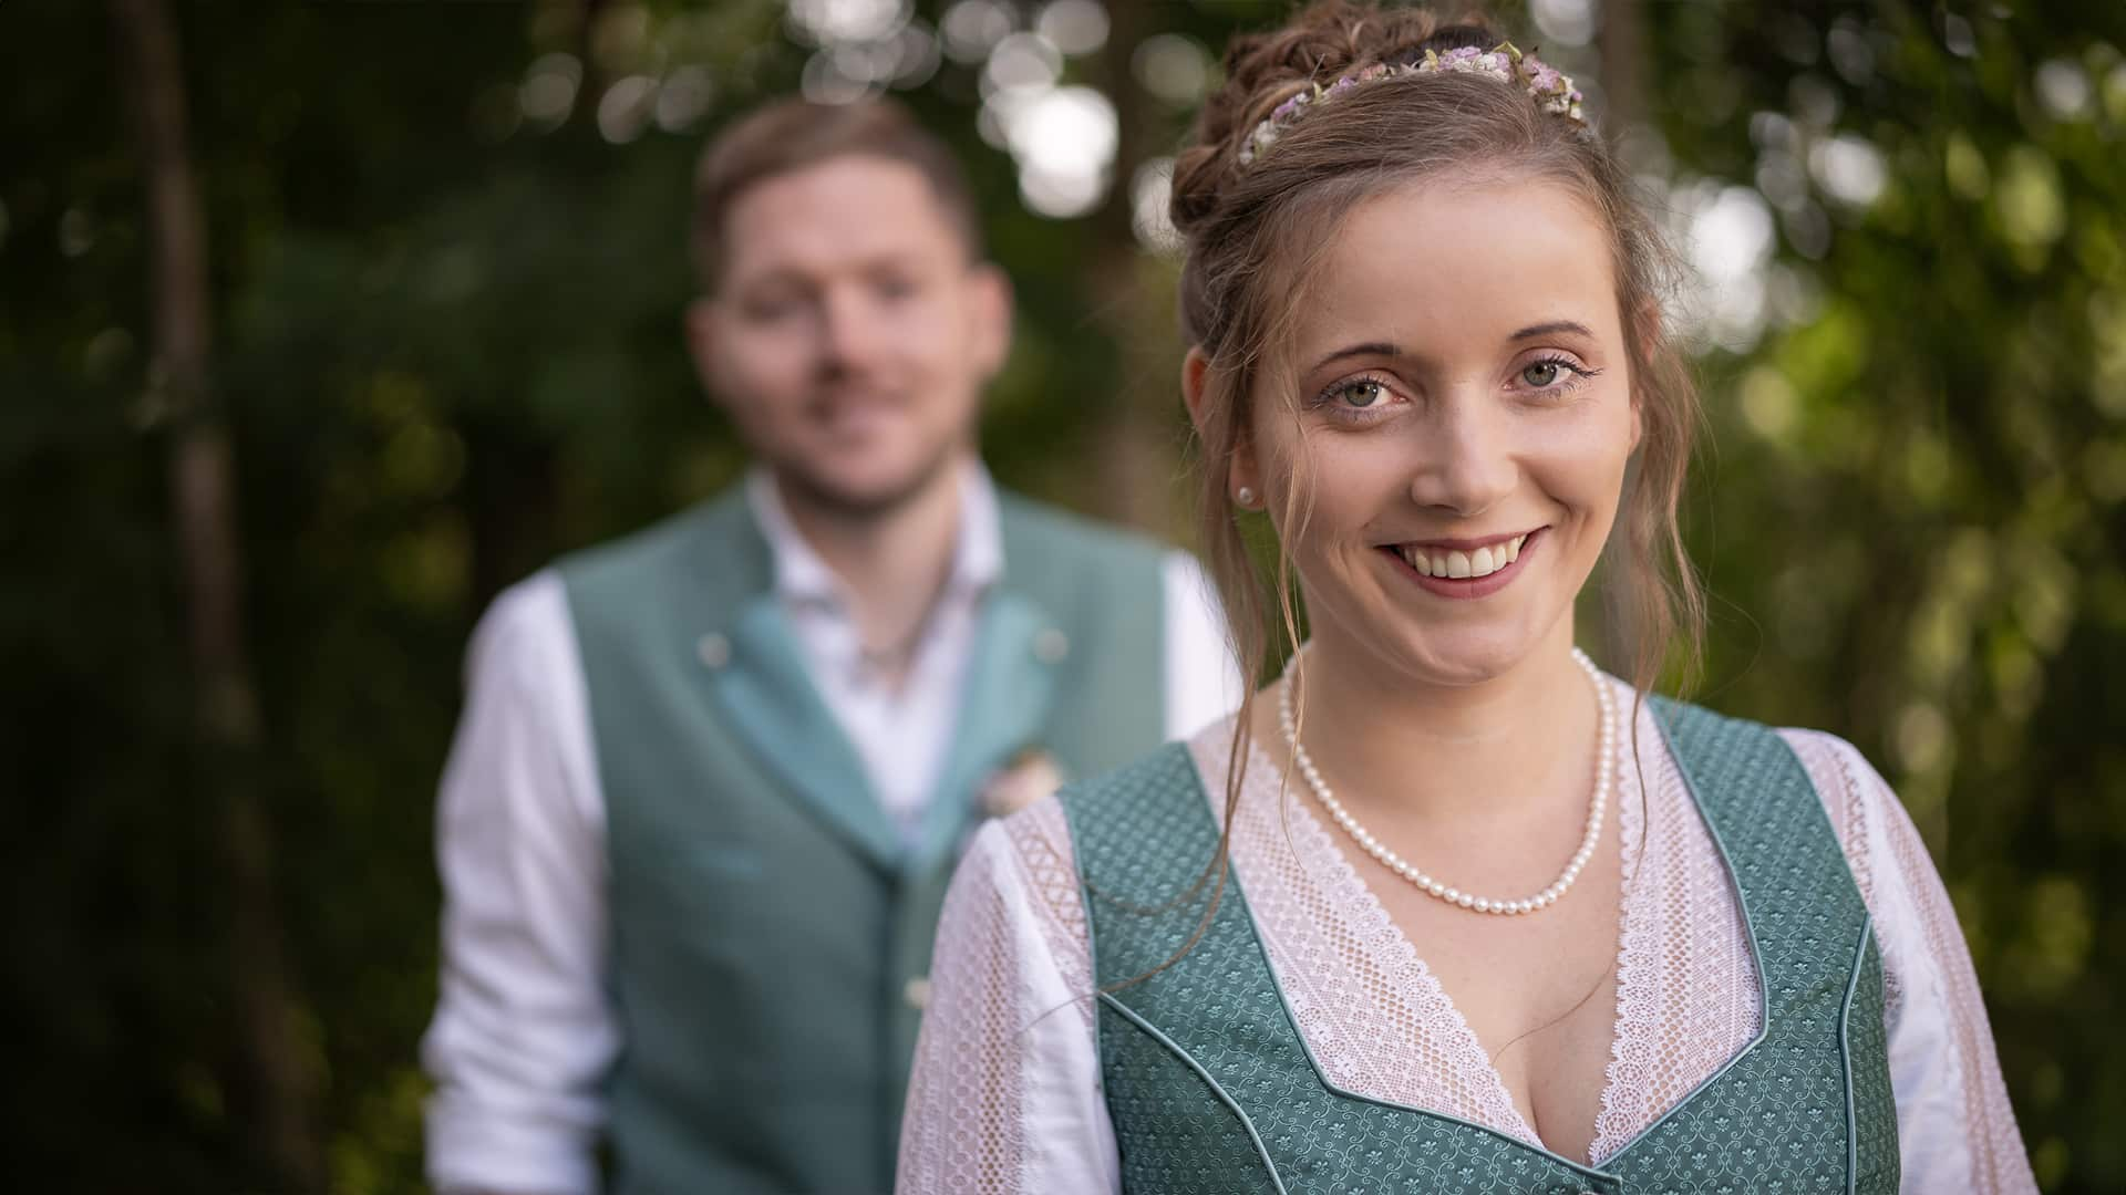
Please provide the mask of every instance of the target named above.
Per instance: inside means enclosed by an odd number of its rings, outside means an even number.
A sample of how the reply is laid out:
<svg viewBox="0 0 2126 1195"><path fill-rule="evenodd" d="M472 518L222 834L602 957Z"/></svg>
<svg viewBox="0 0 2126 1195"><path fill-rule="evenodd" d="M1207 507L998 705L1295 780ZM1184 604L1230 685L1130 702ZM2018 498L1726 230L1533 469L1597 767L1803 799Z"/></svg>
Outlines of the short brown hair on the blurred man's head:
<svg viewBox="0 0 2126 1195"><path fill-rule="evenodd" d="M831 157L882 157L914 166L938 196L946 223L982 257L982 223L959 157L901 104L884 98L855 104L776 100L725 125L693 174L691 251L702 285L714 289L723 270L723 221L748 187Z"/></svg>

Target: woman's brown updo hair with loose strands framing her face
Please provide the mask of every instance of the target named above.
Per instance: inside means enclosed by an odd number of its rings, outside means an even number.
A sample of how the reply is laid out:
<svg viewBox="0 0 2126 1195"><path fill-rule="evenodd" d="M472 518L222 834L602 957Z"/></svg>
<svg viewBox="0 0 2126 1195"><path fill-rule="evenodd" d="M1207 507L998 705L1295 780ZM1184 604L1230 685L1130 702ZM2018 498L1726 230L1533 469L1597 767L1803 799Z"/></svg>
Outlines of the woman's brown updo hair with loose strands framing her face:
<svg viewBox="0 0 2126 1195"><path fill-rule="evenodd" d="M1212 94L1174 164L1171 219L1186 257L1182 332L1208 359L1199 415L1201 538L1225 600L1244 676L1263 676L1276 629L1299 642L1295 578L1280 549L1263 570L1248 553L1227 493L1227 466L1246 442L1254 395L1293 395L1284 357L1324 249L1363 200L1405 183L1548 183L1580 198L1609 240L1618 315L1631 364L1641 440L1626 470L1620 536L1605 551L1603 589L1618 638L1631 644L1631 680L1643 695L1671 646L1694 666L1703 595L1677 529L1677 504L1697 425L1697 391L1663 330L1675 257L1612 147L1582 123L1543 111L1520 85L1469 72L1397 72L1427 51L1488 51L1505 38L1482 17L1424 9L1318 2L1284 28L1235 36L1225 85ZM1280 104L1371 66L1297 119L1278 119L1276 142L1254 134ZM1290 108L1286 108L1288 113ZM1244 149L1252 162L1244 162ZM1284 519L1303 534L1303 457ZM1248 759L1252 693L1242 704L1227 782L1227 827ZM1220 859L1225 851L1220 844ZM1220 876L1222 887L1222 876Z"/></svg>

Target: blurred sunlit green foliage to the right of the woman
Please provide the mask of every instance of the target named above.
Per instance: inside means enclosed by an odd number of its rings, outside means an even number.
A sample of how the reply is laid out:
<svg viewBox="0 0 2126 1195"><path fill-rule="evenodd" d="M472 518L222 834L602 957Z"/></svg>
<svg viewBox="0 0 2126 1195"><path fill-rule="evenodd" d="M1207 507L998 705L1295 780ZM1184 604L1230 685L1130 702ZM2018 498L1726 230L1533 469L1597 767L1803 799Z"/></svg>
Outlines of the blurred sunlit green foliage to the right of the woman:
<svg viewBox="0 0 2126 1195"><path fill-rule="evenodd" d="M2126 1180L2105 1131L2126 1095L2107 963L2126 908L2100 863L2126 846L2109 680L2126 663L2126 21L1952 9L1962 30L1899 4L1722 4L1724 36L1688 49L1656 26L1660 60L1748 64L1731 113L1667 121L1686 168L1750 179L1752 115L1786 111L1799 153L1850 132L1890 172L1871 208L1833 202L1813 259L1792 236L1805 217L1782 213L1782 264L1824 298L1711 364L1739 378L1709 389L1720 459L1692 502L1724 602L1714 695L1839 729L1899 787L1958 904L2039 1178L2098 1191ZM1794 23L1869 53L1813 55ZM2047 104L2047 77L2066 98L2083 81L2081 106ZM1762 166L1777 147L1756 128Z"/></svg>

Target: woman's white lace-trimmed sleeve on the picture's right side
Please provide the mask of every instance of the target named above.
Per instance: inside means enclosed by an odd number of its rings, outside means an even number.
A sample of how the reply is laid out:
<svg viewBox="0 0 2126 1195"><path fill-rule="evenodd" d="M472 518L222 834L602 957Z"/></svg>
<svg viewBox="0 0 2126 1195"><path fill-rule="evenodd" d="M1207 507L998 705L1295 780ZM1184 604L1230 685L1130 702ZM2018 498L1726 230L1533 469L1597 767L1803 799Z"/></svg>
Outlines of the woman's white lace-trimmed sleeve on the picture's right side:
<svg viewBox="0 0 2126 1195"><path fill-rule="evenodd" d="M1890 785L1845 740L1786 731L1875 919L1905 1191L2035 1193L1956 908Z"/></svg>

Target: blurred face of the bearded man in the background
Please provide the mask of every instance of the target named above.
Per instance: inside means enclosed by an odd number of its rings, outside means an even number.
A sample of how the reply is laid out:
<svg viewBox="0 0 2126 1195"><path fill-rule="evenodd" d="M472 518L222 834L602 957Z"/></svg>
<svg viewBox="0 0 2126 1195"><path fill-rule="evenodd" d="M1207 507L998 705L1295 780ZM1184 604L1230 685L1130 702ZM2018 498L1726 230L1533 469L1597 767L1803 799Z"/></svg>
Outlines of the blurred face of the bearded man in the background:
<svg viewBox="0 0 2126 1195"><path fill-rule="evenodd" d="M738 196L723 276L687 325L746 444L804 498L863 515L972 449L1010 293L914 166L844 155Z"/></svg>

